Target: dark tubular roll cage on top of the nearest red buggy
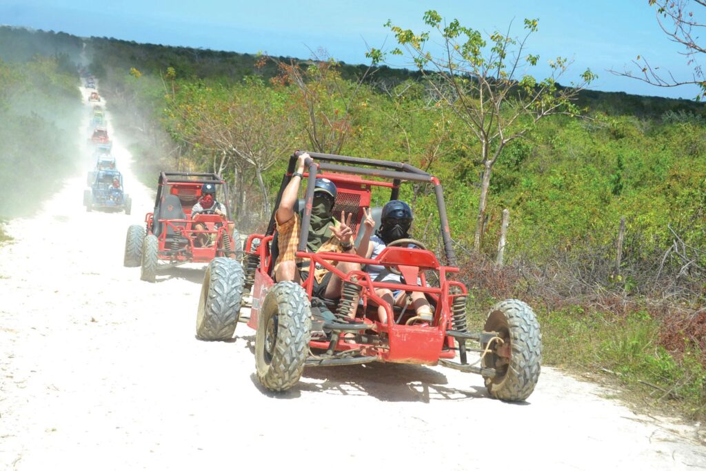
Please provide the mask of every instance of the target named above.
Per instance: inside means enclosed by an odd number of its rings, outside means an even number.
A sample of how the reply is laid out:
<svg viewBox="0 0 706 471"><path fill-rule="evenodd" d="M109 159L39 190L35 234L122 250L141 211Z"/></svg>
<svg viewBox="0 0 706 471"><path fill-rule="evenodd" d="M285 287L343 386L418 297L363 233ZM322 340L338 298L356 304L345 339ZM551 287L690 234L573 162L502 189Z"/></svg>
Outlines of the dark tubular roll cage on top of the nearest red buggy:
<svg viewBox="0 0 706 471"><path fill-rule="evenodd" d="M289 184L289 180L292 179L292 173L294 172L294 166L297 164L297 158L305 152L306 151L297 150L291 157L289 157L287 173L284 177L282 177L282 184L280 184L280 191L277 193L275 209L270 217L270 222L268 224L267 232L265 232L265 237L270 236L275 232L275 213L277 212L277 208L280 207L282 193L285 191L287 184ZM316 185L316 175L319 173L319 170L324 170L343 174L366 175L369 177L391 179L393 180L392 185L384 184L382 181L369 181L369 183L377 184L377 186L390 186L392 188L390 200L396 200L399 198L400 184L402 181L419 181L421 183L433 184L434 193L436 195L436 205L439 213L439 222L441 223L441 237L443 239L446 264L448 266L456 266L456 255L453 251L453 242L451 241L451 234L448 226L448 216L446 214L446 204L443 199L443 189L441 187L441 183L436 177L433 177L433 175L424 172L424 170L418 169L417 167L404 162L390 162L387 160L349 157L347 155L323 154L318 152L309 152L309 155L313 158L307 158L304 161L304 166L309 169L309 178L306 184L306 196L304 196L304 215L301 218L299 246L297 247L298 251L306 251L306 241L309 238L309 223L311 222L311 205L313 201L314 186ZM317 161L313 159L316 159ZM356 167L342 164L352 164L356 165ZM359 167L360 165L366 165L366 167ZM159 196L157 196L157 198L159 198Z"/></svg>

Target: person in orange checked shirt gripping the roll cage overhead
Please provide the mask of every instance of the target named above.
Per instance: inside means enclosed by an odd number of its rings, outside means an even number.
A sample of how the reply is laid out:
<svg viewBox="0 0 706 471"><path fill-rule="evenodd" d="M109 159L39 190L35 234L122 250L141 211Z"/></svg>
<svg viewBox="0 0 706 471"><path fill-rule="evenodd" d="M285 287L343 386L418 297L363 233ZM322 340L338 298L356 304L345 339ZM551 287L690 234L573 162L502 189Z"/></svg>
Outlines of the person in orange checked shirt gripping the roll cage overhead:
<svg viewBox="0 0 706 471"><path fill-rule="evenodd" d="M279 256L275 260L275 280L305 281L309 278L309 259L297 258L299 244L299 229L301 220L294 210L297 202L299 186L304 178L304 160L310 158L308 153L302 153L297 160L297 171L282 192L280 206L275 212L277 225L277 249ZM349 227L352 215L341 212L341 220L333 217L333 205L336 199L336 186L329 179L316 179L311 206L311 222L306 250L311 252L349 252L354 249L352 244L353 231ZM333 263L343 273L360 270L357 263ZM322 267L314 269L312 296L325 299L340 297L342 282L329 270Z"/></svg>

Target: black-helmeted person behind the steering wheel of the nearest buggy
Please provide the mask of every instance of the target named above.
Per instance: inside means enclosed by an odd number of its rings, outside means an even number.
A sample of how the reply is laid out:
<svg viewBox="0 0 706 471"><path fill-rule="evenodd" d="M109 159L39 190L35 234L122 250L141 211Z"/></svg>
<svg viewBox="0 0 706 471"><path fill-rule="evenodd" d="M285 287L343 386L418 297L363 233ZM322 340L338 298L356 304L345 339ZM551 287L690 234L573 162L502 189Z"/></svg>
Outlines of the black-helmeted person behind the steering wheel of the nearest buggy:
<svg viewBox="0 0 706 471"><path fill-rule="evenodd" d="M377 258L385 247L400 239L409 239L409 227L412 226L412 208L404 201L391 200L383 206L383 211L380 218L380 228L372 235L373 228L375 227L375 220L371 215L371 210L366 210L366 217L363 222L365 227L363 238L358 245L358 255L364 258ZM409 245L409 248L414 249L416 246L414 244ZM368 265L365 271L370 274L371 279L374 282L390 282L390 283L400 283L402 280L400 275L391 273L382 265ZM417 279L419 284L421 280ZM409 280L407 281L409 282ZM433 319L433 311L424 297L424 293L412 292L410 297L407 297L407 293L402 290L388 290L385 288L379 288L375 290L375 293L383 298L385 302L388 302L390 306L405 306L405 304L412 304L412 309L417 313L414 317L417 321L431 322ZM385 308L383 306L378 306L378 318L381 323L387 321L387 315L385 314Z"/></svg>

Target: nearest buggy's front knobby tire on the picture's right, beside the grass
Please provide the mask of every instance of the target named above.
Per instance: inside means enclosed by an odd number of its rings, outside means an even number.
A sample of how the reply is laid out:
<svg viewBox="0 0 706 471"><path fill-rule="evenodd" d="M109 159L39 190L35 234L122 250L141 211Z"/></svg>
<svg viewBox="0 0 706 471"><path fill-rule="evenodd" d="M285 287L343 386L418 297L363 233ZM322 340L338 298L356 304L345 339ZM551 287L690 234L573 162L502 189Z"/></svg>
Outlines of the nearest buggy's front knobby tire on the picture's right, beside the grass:
<svg viewBox="0 0 706 471"><path fill-rule="evenodd" d="M509 362L494 352L483 359L483 366L497 371L494 378L484 377L488 392L501 400L527 399L537 386L542 362L542 333L534 311L518 299L506 299L490 310L485 330L498 332L499 337L510 342Z"/></svg>

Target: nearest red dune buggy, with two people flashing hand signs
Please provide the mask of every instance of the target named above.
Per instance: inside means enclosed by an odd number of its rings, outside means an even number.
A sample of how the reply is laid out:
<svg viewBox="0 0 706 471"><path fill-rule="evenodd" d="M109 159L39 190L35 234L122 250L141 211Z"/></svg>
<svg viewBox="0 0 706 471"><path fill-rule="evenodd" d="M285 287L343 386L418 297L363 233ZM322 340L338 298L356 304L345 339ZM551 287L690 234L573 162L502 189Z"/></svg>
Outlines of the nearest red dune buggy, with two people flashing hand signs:
<svg viewBox="0 0 706 471"><path fill-rule="evenodd" d="M295 153L282 179L282 191L292 177ZM297 257L309 259L310 269L328 268L343 280L340 299L311 297L313 276L301 284L275 282L277 258L274 213L265 234L253 234L245 245L245 266L215 258L206 269L196 318L196 335L202 340L229 340L238 321L256 329L255 357L259 381L273 391L292 388L305 366L352 365L396 362L449 366L481 374L491 396L501 400L525 400L539 378L542 339L534 312L524 302L508 299L493 306L484 329L466 327L467 289L452 279L458 272L450 237L441 184L436 177L411 165L340 155L310 153L306 196L299 201L301 232ZM400 184L433 186L438 207L445 257L442 264L433 251L414 239L402 239L383 249L373 261L357 254L306 251L311 205L316 179L325 177L337 187L334 214L353 213L352 229L358 234L371 191L390 190L398 199ZM364 179L366 177L366 179ZM371 209L376 225L381 208ZM357 241L358 243L359 241ZM407 245L414 244L414 249ZM349 261L385 266L402 275L402 285L378 282L362 270L344 274L335 266ZM249 318L240 318L243 292L252 288ZM376 288L424 293L434 311L431 322L420 321L413 309L391 307L375 293ZM378 321L377 306L384 305L387 321ZM334 314L321 316L322 311ZM344 340L345 336L345 340ZM350 338L354 338L353 341ZM467 345L475 342L475 346ZM468 352L479 359L468 362ZM457 359L457 360L456 360Z"/></svg>

